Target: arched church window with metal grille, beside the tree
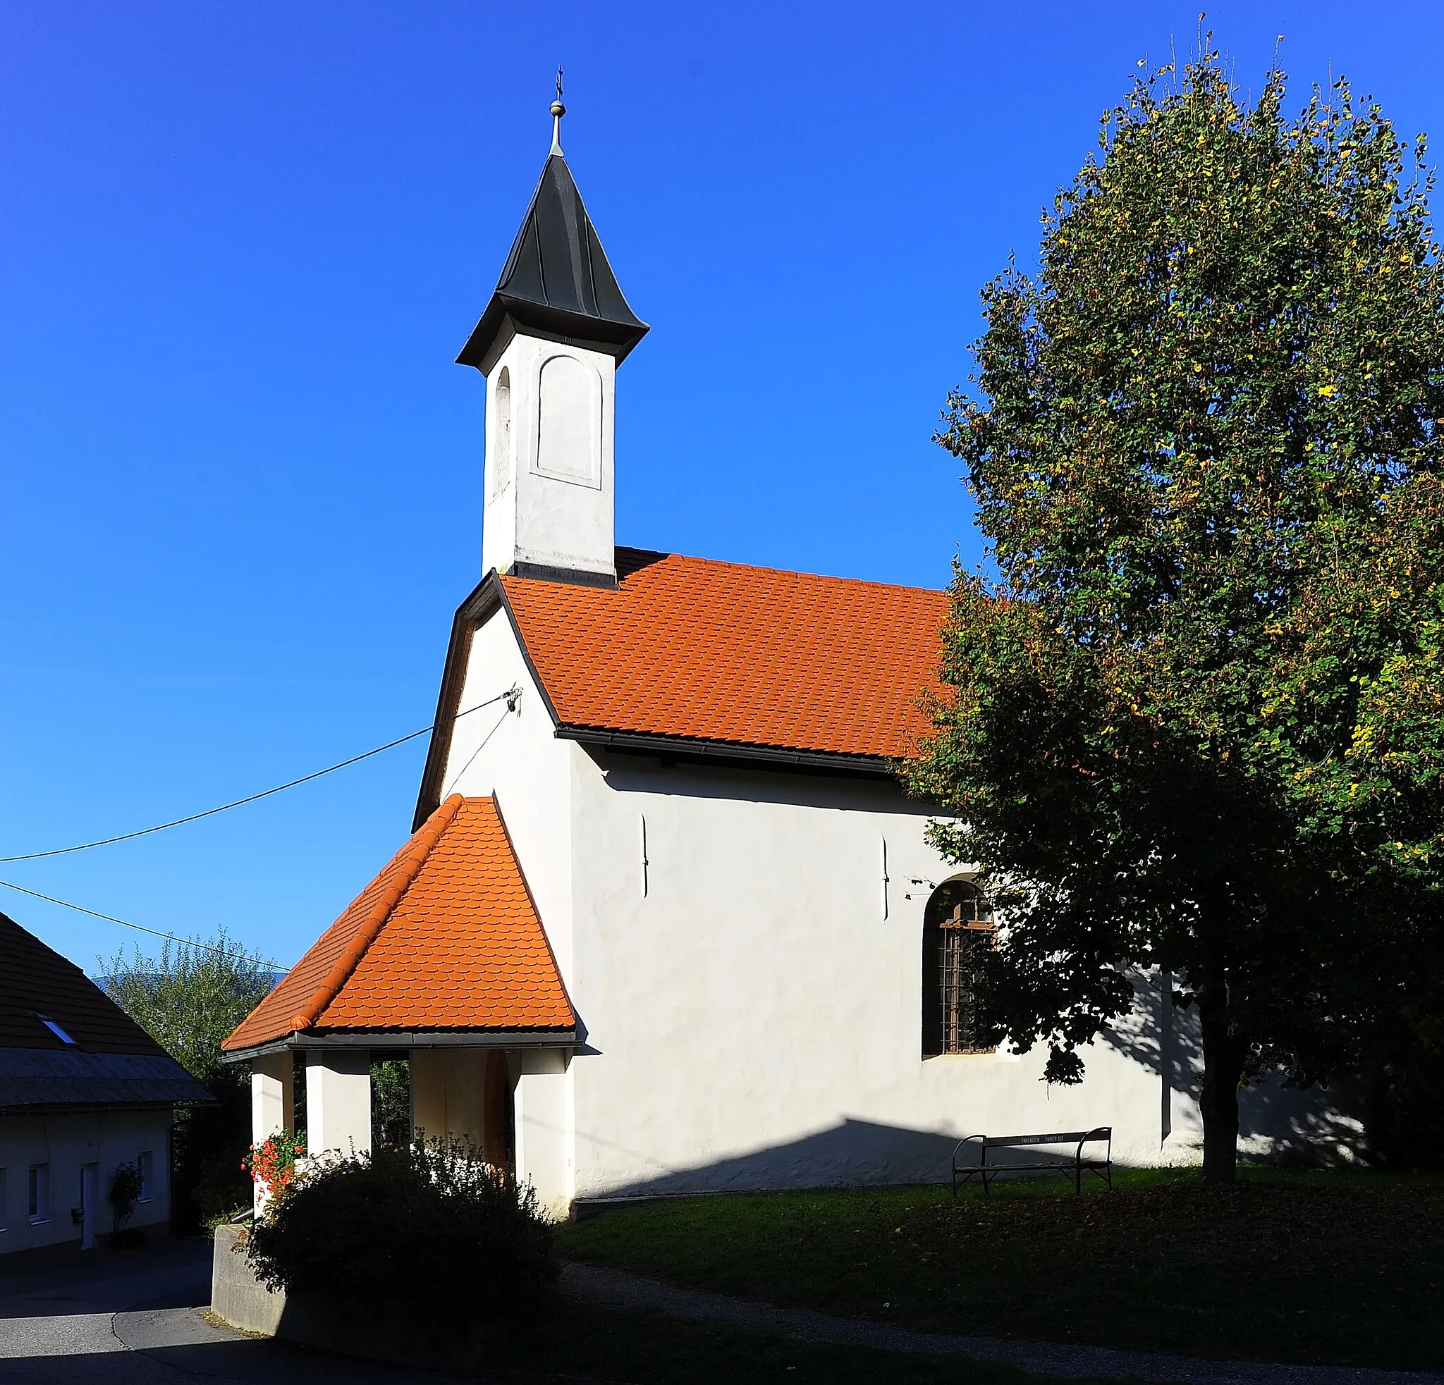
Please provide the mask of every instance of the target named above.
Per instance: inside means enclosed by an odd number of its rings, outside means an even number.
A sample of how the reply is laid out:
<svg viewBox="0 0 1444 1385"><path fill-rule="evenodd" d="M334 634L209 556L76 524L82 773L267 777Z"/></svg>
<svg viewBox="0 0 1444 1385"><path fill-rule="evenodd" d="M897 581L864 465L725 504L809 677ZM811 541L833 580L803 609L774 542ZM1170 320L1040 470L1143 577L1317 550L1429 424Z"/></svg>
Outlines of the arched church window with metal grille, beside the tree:
<svg viewBox="0 0 1444 1385"><path fill-rule="evenodd" d="M923 1057L989 1053L982 1014L983 962L996 924L988 897L966 880L933 891L923 914Z"/></svg>

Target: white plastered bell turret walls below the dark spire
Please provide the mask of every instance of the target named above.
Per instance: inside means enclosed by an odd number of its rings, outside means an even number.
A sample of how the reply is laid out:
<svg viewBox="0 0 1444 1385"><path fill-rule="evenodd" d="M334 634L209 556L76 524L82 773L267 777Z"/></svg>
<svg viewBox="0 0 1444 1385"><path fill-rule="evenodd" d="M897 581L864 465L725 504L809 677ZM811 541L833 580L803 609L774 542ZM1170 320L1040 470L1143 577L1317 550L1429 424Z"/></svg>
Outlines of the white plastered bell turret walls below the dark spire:
<svg viewBox="0 0 1444 1385"><path fill-rule="evenodd" d="M542 380L547 361L578 362L595 386L567 401L579 433L595 432L595 475L544 474L539 449ZM498 456L495 390L505 370L511 391L511 456ZM481 566L508 570L517 562L578 572L614 573L614 468L617 362L601 351L518 334L487 377L487 462ZM595 419L592 413L595 410ZM586 417L580 417L580 414ZM591 471L591 466L583 468ZM501 482L501 484L498 484Z"/></svg>

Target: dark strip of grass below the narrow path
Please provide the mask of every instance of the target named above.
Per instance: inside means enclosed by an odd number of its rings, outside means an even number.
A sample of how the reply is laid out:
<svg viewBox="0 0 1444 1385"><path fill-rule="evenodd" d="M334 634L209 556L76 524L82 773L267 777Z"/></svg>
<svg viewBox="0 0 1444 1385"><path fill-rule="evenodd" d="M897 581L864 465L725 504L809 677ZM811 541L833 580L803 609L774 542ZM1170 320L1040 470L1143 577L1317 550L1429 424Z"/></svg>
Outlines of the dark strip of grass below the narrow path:
<svg viewBox="0 0 1444 1385"><path fill-rule="evenodd" d="M1054 1376L957 1358L913 1356L853 1346L816 1346L770 1332L713 1327L619 1313L592 1304L554 1304L495 1360L503 1369L549 1376L627 1381L630 1385L1056 1385ZM1087 1382L1070 1381L1070 1385Z"/></svg>

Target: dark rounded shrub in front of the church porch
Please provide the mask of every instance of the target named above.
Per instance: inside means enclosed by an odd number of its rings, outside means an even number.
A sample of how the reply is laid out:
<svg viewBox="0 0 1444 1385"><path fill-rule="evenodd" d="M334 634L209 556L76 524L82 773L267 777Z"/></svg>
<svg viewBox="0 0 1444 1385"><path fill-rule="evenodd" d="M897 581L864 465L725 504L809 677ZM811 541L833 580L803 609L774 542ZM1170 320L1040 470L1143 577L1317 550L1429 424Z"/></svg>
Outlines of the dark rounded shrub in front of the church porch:
<svg viewBox="0 0 1444 1385"><path fill-rule="evenodd" d="M559 1269L531 1187L456 1139L313 1165L251 1230L247 1255L273 1288L394 1307L449 1333L529 1316Z"/></svg>

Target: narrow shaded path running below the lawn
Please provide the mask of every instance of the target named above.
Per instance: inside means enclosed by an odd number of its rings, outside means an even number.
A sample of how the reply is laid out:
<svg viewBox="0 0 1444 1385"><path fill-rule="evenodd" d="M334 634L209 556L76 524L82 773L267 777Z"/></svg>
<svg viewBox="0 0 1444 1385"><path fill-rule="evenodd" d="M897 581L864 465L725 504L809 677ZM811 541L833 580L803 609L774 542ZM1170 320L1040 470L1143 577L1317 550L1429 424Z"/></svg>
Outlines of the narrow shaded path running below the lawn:
<svg viewBox="0 0 1444 1385"><path fill-rule="evenodd" d="M573 1298L615 1308L653 1308L669 1317L696 1319L725 1327L784 1332L801 1342L967 1356L973 1360L991 1360L1070 1379L1092 1376L1109 1381L1187 1382L1187 1385L1444 1385L1444 1376L1408 1371L1268 1366L1253 1362L1155 1356L1149 1352L1115 1352L1096 1346L910 1332L905 1327L864 1319L827 1317L807 1308L774 1308L764 1303L745 1303L722 1294L658 1284L621 1269L575 1262L563 1271L562 1288Z"/></svg>

